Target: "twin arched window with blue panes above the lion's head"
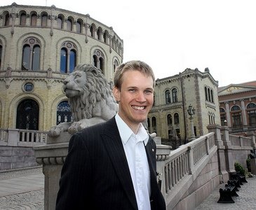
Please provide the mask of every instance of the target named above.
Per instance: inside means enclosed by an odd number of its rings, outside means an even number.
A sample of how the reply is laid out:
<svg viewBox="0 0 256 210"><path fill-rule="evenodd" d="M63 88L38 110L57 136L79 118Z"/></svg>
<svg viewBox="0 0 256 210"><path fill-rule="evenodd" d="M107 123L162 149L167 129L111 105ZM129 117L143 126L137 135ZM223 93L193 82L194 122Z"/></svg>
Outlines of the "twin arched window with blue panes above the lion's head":
<svg viewBox="0 0 256 210"><path fill-rule="evenodd" d="M72 73L76 66L76 45L71 42L62 44L60 50L60 72Z"/></svg>

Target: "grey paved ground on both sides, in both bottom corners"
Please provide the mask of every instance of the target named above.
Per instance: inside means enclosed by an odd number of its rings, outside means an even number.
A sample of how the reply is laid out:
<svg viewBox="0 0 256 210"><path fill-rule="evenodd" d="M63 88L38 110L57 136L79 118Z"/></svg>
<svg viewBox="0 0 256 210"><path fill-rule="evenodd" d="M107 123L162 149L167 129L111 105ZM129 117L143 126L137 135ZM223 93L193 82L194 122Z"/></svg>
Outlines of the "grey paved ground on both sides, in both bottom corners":
<svg viewBox="0 0 256 210"><path fill-rule="evenodd" d="M0 172L0 210L43 210L44 176L41 168ZM195 210L252 210L256 209L256 176L247 178L234 204L218 204L217 187Z"/></svg>

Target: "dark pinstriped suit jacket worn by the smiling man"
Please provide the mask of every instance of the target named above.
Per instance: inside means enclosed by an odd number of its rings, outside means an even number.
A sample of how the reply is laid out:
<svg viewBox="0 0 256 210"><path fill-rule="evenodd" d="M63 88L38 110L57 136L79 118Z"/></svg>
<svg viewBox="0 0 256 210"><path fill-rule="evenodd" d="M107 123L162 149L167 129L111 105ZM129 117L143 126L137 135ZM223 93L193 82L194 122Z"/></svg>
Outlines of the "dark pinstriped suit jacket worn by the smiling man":
<svg viewBox="0 0 256 210"><path fill-rule="evenodd" d="M145 147L151 176L151 210L165 210L156 181L156 144ZM137 210L133 181L115 118L82 130L69 141L56 210Z"/></svg>

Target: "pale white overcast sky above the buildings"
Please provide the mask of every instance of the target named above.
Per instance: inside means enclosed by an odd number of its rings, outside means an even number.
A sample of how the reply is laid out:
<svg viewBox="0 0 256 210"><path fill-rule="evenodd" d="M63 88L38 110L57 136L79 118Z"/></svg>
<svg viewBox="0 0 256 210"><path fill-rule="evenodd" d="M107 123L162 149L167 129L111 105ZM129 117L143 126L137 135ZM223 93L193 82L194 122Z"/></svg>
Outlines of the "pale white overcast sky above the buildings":
<svg viewBox="0 0 256 210"><path fill-rule="evenodd" d="M219 87L256 80L255 0L1 0L71 10L113 27L123 39L123 62L141 59L156 78L187 68Z"/></svg>

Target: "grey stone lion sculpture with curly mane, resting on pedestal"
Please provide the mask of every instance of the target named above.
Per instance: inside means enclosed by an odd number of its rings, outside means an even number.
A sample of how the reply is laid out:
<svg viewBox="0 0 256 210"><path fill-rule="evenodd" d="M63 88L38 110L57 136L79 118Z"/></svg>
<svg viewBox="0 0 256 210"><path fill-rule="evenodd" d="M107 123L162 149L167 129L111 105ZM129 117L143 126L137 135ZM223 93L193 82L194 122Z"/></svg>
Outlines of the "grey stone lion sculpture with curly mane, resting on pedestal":
<svg viewBox="0 0 256 210"><path fill-rule="evenodd" d="M65 131L74 134L109 120L118 111L107 79L100 69L91 64L76 66L64 80L63 90L69 98L73 121L52 127L48 132L50 137L58 137Z"/></svg>

